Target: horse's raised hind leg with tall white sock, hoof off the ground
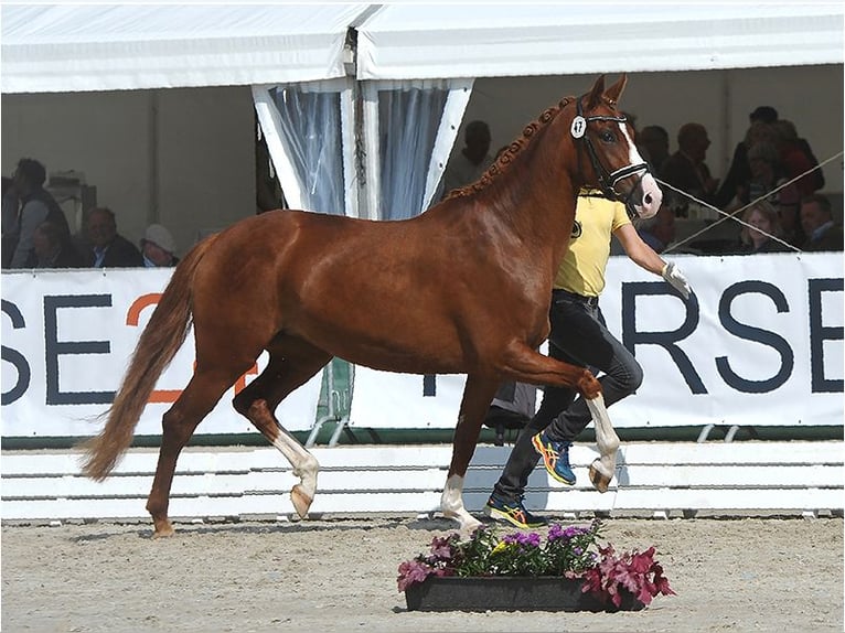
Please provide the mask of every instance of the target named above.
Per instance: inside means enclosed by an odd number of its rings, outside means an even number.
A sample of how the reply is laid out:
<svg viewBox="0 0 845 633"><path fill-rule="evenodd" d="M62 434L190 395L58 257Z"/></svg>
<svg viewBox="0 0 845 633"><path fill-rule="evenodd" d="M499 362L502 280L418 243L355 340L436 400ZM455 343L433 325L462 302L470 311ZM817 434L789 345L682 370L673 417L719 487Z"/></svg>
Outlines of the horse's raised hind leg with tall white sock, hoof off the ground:
<svg viewBox="0 0 845 633"><path fill-rule="evenodd" d="M290 491L290 500L297 514L304 518L314 500L320 466L299 440L279 423L274 411L291 391L317 374L331 355L293 336L278 336L267 350L269 364L235 397L233 405L293 466L300 483Z"/></svg>

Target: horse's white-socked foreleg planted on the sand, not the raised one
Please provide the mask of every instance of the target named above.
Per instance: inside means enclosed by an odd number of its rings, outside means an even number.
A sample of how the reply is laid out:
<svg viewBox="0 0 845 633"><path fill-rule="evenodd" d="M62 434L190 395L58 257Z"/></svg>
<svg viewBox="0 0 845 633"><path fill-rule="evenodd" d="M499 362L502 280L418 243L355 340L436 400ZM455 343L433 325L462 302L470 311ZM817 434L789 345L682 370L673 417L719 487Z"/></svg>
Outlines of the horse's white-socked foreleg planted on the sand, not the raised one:
<svg viewBox="0 0 845 633"><path fill-rule="evenodd" d="M463 480L472 454L475 452L481 423L496 388L499 388L496 379L475 375L467 376L458 426L452 439L452 461L440 496L440 509L443 516L457 521L463 532L472 532L481 525L481 522L468 513L463 506Z"/></svg>

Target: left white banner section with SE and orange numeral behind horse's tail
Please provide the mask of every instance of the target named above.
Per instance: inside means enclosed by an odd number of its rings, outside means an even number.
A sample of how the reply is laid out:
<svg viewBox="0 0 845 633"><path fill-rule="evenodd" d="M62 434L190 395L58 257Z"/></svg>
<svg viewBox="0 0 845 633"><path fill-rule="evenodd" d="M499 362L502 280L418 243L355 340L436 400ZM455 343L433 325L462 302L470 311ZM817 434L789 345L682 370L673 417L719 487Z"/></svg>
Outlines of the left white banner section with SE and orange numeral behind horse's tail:
<svg viewBox="0 0 845 633"><path fill-rule="evenodd" d="M172 269L3 272L2 436L97 433L129 357ZM244 308L247 309L246 307ZM161 433L161 416L191 379L193 331L161 375L136 429ZM232 398L267 366L264 353L221 398L197 433L258 432ZM288 430L311 429L322 385L318 374L277 409Z"/></svg>

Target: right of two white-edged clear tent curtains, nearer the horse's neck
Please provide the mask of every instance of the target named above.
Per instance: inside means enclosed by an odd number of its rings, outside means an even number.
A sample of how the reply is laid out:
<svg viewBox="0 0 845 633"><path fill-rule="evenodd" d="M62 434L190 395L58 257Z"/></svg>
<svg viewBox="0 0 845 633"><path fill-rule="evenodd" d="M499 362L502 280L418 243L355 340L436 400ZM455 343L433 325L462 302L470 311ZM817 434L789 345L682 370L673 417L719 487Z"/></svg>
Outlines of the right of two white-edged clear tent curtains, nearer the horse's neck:
<svg viewBox="0 0 845 633"><path fill-rule="evenodd" d="M472 79L364 85L370 217L414 217L436 200L471 88Z"/></svg>

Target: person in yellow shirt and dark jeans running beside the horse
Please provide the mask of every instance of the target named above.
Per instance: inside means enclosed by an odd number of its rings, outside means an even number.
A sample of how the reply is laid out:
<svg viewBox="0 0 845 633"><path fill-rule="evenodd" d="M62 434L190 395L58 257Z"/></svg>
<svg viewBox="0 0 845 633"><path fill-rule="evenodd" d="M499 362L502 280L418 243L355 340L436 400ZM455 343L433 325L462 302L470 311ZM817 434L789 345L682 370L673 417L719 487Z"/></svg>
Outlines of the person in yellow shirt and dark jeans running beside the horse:
<svg viewBox="0 0 845 633"><path fill-rule="evenodd" d="M580 192L569 250L557 269L552 291L548 350L553 358L589 367L593 373L603 372L599 382L608 407L633 394L643 377L637 358L613 337L599 309L611 235L617 236L634 264L662 276L684 299L689 297L686 278L640 238L622 203L596 191ZM493 487L485 507L488 515L520 528L546 525L547 519L531 514L522 500L528 475L541 457L556 481L575 484L569 447L591 420L584 398L576 400L575 396L575 389L545 388L539 410L520 433Z"/></svg>

